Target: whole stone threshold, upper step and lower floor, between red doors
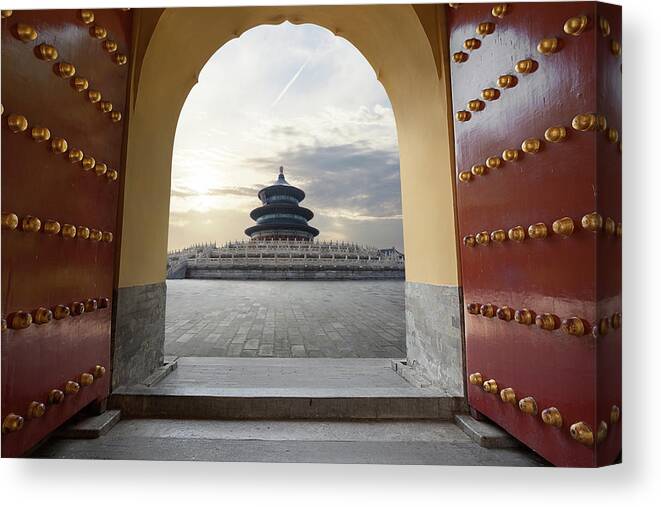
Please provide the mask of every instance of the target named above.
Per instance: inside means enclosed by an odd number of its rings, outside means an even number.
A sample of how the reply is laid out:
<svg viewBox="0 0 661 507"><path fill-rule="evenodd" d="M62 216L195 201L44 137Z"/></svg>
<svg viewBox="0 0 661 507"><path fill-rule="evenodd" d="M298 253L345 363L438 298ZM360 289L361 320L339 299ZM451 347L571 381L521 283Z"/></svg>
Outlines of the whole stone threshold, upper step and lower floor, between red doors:
<svg viewBox="0 0 661 507"><path fill-rule="evenodd" d="M546 465L411 373L389 359L170 358L32 457Z"/></svg>

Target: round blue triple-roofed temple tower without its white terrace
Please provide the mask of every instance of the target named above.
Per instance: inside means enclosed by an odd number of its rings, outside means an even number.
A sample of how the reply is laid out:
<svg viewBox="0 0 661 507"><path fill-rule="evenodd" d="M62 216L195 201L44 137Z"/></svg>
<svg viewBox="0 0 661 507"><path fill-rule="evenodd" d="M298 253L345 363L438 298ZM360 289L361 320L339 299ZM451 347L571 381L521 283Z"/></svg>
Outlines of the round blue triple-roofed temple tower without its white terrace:
<svg viewBox="0 0 661 507"><path fill-rule="evenodd" d="M280 166L278 179L257 194L262 206L250 212L257 225L248 227L250 239L311 240L319 230L308 225L314 213L299 206L305 192L287 183L284 168Z"/></svg>

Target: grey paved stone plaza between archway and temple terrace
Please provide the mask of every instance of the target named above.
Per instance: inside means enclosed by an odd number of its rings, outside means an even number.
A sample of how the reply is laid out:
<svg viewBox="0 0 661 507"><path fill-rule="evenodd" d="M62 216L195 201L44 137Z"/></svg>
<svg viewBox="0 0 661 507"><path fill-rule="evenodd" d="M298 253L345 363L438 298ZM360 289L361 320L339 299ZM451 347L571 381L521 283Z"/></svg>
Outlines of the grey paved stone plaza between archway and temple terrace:
<svg viewBox="0 0 661 507"><path fill-rule="evenodd" d="M168 280L165 353L405 357L404 282Z"/></svg>

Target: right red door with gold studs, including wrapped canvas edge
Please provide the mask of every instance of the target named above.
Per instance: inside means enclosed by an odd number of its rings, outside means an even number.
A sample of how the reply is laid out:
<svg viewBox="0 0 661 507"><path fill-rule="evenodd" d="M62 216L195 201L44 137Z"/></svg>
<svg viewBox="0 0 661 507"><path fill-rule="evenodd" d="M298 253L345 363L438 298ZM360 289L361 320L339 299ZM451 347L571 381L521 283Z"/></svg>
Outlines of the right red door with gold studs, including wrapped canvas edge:
<svg viewBox="0 0 661 507"><path fill-rule="evenodd" d="M470 405L549 461L621 449L621 11L448 7Z"/></svg>

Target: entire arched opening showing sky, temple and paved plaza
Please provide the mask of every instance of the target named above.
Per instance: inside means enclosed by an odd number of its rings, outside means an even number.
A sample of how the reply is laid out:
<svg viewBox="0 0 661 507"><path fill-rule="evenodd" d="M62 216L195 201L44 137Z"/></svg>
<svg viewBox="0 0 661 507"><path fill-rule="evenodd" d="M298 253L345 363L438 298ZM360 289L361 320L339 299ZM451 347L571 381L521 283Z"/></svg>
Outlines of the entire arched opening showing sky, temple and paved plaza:
<svg viewBox="0 0 661 507"><path fill-rule="evenodd" d="M244 32L177 124L165 354L406 357L401 217L392 105L362 53L317 25Z"/></svg>

